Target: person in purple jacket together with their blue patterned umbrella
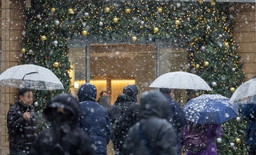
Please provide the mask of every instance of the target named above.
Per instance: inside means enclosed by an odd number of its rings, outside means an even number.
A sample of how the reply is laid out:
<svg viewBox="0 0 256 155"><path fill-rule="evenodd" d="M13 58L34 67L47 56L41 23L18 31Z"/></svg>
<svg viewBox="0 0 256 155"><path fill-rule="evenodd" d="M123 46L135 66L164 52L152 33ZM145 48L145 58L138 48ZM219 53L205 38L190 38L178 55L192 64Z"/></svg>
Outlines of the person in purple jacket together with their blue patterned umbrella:
<svg viewBox="0 0 256 155"><path fill-rule="evenodd" d="M219 94L203 94L183 108L189 124L184 128L187 155L217 155L214 138L222 136L221 123L236 117L238 107Z"/></svg>

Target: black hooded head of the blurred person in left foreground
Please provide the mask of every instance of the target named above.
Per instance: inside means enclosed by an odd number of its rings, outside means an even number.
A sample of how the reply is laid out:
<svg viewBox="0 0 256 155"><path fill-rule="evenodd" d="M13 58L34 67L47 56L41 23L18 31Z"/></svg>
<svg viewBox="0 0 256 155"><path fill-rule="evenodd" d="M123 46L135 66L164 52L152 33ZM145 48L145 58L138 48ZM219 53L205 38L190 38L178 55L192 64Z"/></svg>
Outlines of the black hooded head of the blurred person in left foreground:
<svg viewBox="0 0 256 155"><path fill-rule="evenodd" d="M56 124L74 124L78 122L81 116L79 102L67 93L58 94L46 105L43 115L47 121Z"/></svg>

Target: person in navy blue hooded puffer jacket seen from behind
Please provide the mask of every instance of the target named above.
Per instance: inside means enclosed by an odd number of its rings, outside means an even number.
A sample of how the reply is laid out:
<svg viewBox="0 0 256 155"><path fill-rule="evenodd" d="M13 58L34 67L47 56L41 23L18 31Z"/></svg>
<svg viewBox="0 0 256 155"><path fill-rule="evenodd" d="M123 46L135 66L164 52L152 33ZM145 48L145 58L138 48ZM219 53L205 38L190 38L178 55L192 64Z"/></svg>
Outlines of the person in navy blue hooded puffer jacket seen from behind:
<svg viewBox="0 0 256 155"><path fill-rule="evenodd" d="M92 84L84 84L78 91L82 109L80 127L93 141L94 155L106 155L111 138L111 124L108 112L96 101L97 90Z"/></svg>

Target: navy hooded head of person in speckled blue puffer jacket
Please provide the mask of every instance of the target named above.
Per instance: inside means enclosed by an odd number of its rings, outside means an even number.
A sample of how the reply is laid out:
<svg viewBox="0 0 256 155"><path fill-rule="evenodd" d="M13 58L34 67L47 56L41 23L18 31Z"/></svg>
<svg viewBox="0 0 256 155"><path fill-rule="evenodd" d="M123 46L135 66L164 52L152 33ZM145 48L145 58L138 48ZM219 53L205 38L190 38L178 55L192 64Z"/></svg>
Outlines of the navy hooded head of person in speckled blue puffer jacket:
<svg viewBox="0 0 256 155"><path fill-rule="evenodd" d="M92 84L84 84L78 90L79 102L83 101L96 101L97 89Z"/></svg>

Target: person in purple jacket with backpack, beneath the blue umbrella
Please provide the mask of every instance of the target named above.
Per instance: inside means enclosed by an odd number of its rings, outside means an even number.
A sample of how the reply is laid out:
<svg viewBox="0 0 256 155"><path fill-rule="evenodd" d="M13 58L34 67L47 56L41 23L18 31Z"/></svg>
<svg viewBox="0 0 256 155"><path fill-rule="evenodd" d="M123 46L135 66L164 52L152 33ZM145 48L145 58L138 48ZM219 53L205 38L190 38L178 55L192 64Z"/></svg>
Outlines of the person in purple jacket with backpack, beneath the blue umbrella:
<svg viewBox="0 0 256 155"><path fill-rule="evenodd" d="M184 128L186 155L217 155L215 138L222 136L221 124L196 124L189 122Z"/></svg>

